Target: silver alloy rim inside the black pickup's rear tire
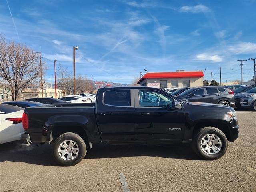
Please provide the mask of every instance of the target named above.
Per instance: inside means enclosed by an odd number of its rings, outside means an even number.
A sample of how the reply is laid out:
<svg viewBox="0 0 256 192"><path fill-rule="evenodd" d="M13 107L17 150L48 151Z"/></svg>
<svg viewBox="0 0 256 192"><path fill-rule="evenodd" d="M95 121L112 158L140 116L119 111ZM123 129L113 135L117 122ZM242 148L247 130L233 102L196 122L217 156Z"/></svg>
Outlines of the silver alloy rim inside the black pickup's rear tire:
<svg viewBox="0 0 256 192"><path fill-rule="evenodd" d="M66 161L74 160L78 156L78 152L79 147L72 140L65 140L58 147L59 156Z"/></svg>

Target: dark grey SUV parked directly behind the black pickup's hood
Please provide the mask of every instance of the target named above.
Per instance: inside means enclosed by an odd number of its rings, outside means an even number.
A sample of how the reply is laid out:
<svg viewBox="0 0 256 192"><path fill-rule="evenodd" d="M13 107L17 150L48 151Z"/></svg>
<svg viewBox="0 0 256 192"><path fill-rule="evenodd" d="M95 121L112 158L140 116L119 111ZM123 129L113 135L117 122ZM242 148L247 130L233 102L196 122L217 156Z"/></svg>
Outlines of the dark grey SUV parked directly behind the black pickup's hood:
<svg viewBox="0 0 256 192"><path fill-rule="evenodd" d="M235 106L234 92L226 87L205 86L190 88L179 94L177 98L184 101Z"/></svg>

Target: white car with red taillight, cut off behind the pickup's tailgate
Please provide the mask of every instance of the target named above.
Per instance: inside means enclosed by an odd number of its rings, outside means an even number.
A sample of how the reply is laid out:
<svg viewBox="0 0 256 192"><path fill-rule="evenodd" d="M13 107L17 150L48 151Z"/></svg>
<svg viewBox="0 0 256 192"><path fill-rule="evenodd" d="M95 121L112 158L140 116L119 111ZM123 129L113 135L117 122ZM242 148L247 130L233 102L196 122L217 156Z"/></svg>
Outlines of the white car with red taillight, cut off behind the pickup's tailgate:
<svg viewBox="0 0 256 192"><path fill-rule="evenodd" d="M0 104L0 144L20 140L24 108Z"/></svg>

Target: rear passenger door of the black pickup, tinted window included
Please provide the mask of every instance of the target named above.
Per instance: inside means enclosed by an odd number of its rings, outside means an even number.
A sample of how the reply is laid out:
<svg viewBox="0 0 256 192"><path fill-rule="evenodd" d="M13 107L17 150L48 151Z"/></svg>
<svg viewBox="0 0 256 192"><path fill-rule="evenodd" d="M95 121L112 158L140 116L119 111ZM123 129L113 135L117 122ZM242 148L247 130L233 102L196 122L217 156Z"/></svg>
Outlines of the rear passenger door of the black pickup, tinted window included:
<svg viewBox="0 0 256 192"><path fill-rule="evenodd" d="M103 91L103 90L101 90ZM98 93L96 116L103 142L136 140L134 91L104 90Z"/></svg>

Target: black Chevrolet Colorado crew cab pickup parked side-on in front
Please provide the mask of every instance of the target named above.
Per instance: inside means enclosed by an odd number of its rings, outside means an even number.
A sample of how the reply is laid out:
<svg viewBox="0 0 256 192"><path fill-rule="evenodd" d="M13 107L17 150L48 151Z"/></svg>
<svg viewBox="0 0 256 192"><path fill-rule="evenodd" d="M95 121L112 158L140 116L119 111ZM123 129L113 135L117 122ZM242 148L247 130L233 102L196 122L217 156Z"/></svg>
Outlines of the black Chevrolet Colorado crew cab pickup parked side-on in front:
<svg viewBox="0 0 256 192"><path fill-rule="evenodd" d="M239 134L233 108L185 102L149 87L102 88L95 104L25 108L23 127L23 145L53 144L63 166L78 164L95 143L191 143L201 158L215 160Z"/></svg>

